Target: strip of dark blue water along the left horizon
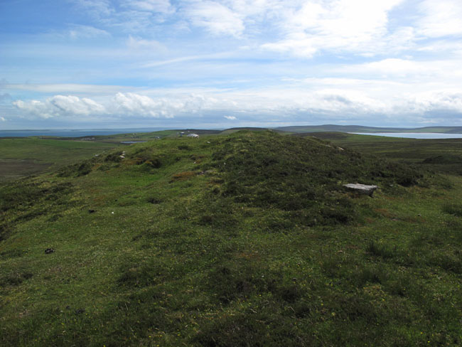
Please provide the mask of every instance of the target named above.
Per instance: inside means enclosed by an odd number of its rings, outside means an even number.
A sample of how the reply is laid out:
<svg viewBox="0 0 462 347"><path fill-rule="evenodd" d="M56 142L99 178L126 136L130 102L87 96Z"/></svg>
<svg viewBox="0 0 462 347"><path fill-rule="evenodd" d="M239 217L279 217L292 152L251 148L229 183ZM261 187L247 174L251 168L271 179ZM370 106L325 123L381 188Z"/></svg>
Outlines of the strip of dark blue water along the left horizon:
<svg viewBox="0 0 462 347"><path fill-rule="evenodd" d="M133 132L157 132L168 128L124 128L124 129L53 129L53 130L0 130L0 137L84 137L96 135L127 134Z"/></svg>

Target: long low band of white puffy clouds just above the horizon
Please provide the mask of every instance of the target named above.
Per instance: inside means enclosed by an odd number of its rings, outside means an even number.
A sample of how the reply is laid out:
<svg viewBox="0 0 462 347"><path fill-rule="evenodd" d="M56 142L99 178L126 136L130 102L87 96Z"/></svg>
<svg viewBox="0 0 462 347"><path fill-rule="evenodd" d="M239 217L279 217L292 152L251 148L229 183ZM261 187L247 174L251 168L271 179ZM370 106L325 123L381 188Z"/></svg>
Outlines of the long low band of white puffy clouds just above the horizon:
<svg viewBox="0 0 462 347"><path fill-rule="evenodd" d="M316 82L313 80L311 82ZM209 119L219 122L227 119L243 122L297 122L306 117L318 117L321 122L348 119L370 119L377 122L387 119L419 119L419 122L439 119L448 122L462 115L462 90L427 90L424 92L396 92L386 94L374 90L374 82L357 80L326 80L324 87L318 81L310 87L285 89L245 90L228 92L195 92L186 94L166 90L159 95L141 95L118 92L101 102L75 96L55 95L44 102L16 100L13 104L22 117L35 118L74 117L75 119ZM331 83L331 85L329 85ZM338 85L339 87L335 87ZM345 86L345 87L343 87ZM370 88L372 86L372 88ZM407 88L409 90L409 88ZM219 117L220 116L220 117ZM452 117L452 118L451 118ZM417 122L417 121L416 121Z"/></svg>

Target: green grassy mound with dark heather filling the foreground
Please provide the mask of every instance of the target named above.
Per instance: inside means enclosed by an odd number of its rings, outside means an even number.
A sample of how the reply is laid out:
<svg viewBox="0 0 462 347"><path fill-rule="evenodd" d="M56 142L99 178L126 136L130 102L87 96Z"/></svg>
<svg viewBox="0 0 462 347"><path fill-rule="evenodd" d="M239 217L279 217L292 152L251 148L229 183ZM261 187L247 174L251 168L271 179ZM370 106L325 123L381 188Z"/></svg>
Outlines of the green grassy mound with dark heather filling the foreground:
<svg viewBox="0 0 462 347"><path fill-rule="evenodd" d="M3 346L462 343L460 177L267 132L125 151L0 188Z"/></svg>

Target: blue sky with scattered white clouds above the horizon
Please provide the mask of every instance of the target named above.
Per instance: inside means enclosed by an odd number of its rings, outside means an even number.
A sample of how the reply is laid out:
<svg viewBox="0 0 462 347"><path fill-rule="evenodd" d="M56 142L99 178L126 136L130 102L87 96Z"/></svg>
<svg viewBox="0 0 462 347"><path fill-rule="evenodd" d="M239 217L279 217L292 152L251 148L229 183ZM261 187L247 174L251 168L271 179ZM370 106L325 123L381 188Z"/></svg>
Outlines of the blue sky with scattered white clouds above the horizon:
<svg viewBox="0 0 462 347"><path fill-rule="evenodd" d="M461 0L0 0L0 129L462 126Z"/></svg>

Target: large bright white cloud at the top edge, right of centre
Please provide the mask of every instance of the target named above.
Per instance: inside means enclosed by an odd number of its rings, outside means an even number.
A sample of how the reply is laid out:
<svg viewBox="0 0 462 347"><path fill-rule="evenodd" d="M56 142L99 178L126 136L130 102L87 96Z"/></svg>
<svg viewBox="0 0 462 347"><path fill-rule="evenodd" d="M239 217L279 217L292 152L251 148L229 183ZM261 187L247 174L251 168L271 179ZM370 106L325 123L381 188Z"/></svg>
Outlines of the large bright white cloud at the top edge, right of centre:
<svg viewBox="0 0 462 347"><path fill-rule="evenodd" d="M279 23L284 38L264 43L262 48L311 57L319 50L343 50L374 54L397 43L388 39L388 14L402 0L304 1L299 8L289 6ZM412 31L403 28L406 41ZM396 36L396 35L395 35ZM398 43L402 45L402 40Z"/></svg>

